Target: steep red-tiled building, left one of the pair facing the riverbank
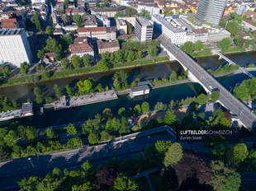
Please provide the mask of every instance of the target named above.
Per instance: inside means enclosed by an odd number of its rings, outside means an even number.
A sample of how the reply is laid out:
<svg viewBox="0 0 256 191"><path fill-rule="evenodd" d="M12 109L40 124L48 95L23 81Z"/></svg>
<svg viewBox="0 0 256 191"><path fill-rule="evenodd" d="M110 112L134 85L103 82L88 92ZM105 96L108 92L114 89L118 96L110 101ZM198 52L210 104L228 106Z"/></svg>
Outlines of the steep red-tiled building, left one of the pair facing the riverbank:
<svg viewBox="0 0 256 191"><path fill-rule="evenodd" d="M73 44L70 45L71 56L76 54L80 57L83 57L84 54L89 54L91 57L94 57L94 52L92 45L88 44L88 39L84 37L78 37L73 40Z"/></svg>

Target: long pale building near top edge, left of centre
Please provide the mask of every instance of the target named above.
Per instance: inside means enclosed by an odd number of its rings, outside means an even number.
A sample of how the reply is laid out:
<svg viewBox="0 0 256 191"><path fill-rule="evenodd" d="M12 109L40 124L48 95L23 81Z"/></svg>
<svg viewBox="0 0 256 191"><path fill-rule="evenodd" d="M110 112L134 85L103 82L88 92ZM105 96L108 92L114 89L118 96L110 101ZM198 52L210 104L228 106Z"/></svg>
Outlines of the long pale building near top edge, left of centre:
<svg viewBox="0 0 256 191"><path fill-rule="evenodd" d="M105 15L108 17L114 17L116 12L125 13L125 6L112 6L112 7L92 7L91 13L92 15Z"/></svg>

